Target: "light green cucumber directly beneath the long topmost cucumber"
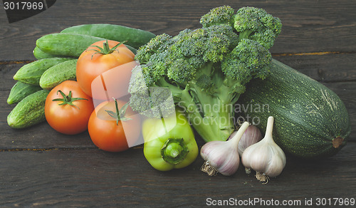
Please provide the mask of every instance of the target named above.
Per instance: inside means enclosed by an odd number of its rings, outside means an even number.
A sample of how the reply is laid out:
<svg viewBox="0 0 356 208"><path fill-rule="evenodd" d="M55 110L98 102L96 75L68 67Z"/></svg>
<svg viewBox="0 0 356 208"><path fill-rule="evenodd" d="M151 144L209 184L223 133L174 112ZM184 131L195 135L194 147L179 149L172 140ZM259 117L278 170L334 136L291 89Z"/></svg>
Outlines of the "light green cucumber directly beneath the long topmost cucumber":
<svg viewBox="0 0 356 208"><path fill-rule="evenodd" d="M36 47L44 53L49 53L53 56L78 58L91 44L104 40L104 38L73 33L52 33L38 38ZM129 48L132 53L136 53L136 48L126 44L125 46Z"/></svg>

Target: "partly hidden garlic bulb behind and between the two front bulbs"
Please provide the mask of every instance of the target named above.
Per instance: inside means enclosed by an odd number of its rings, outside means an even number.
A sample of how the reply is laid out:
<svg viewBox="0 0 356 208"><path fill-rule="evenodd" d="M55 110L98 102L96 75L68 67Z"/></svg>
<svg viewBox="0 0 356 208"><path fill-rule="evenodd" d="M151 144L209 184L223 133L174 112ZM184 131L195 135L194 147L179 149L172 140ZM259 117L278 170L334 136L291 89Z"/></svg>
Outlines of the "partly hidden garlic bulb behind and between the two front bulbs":
<svg viewBox="0 0 356 208"><path fill-rule="evenodd" d="M234 131L230 137L229 140L234 137L237 131ZM244 135L242 135L241 140L239 142L239 155L241 156L242 153L246 150L247 147L256 144L257 142L262 140L262 134L261 131L255 126L255 125L250 125L244 132Z"/></svg>

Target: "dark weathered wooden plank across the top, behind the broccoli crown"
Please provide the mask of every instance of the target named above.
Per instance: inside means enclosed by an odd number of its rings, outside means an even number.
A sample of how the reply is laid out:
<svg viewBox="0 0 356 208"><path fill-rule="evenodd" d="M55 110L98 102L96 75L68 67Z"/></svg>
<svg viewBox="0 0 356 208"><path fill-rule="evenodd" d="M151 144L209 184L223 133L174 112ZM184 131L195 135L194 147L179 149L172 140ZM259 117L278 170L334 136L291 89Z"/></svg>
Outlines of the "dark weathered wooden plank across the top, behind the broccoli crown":
<svg viewBox="0 0 356 208"><path fill-rule="evenodd" d="M176 35L200 26L201 15L222 4L235 9L256 6L283 22L273 53L354 51L356 2L325 1L57 1L47 11L8 24L0 14L0 61L33 60L36 39L78 24L110 23ZM114 5L114 6L113 6ZM98 9L100 8L100 10ZM11 43L11 44L9 44ZM15 48L21 48L21 53Z"/></svg>

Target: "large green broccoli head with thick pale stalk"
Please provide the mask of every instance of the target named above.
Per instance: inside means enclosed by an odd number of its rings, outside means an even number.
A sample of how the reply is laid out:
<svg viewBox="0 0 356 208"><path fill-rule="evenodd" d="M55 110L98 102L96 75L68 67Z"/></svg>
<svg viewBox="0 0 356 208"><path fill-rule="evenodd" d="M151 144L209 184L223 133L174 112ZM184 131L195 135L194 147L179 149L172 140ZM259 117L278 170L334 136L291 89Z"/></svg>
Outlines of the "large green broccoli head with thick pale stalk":
<svg viewBox="0 0 356 208"><path fill-rule="evenodd" d="M203 27L185 29L177 36L164 33L141 46L135 56L140 66L130 79L131 108L159 118L174 112L177 105L203 140L226 140L235 129L234 104L239 95L252 78L268 76L272 59L261 43L267 30L260 28L241 38L247 29L239 32L233 26L236 22L232 24L249 9L236 14L229 6L212 9L202 16ZM245 18L246 26L261 22Z"/></svg>

